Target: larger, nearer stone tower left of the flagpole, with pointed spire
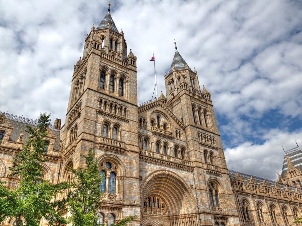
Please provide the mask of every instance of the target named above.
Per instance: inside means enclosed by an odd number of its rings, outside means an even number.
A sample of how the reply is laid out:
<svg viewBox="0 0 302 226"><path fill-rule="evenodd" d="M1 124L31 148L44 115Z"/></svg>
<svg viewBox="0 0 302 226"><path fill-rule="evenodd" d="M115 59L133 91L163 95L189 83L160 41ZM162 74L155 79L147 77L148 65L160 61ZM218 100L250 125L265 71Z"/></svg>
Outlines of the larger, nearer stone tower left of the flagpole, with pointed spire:
<svg viewBox="0 0 302 226"><path fill-rule="evenodd" d="M110 225L140 212L136 90L136 57L131 50L127 56L123 30L117 30L109 5L104 19L85 38L83 57L74 66L60 131L64 146L60 180L72 180L67 166L85 167L81 155L89 148L105 175L99 223Z"/></svg>

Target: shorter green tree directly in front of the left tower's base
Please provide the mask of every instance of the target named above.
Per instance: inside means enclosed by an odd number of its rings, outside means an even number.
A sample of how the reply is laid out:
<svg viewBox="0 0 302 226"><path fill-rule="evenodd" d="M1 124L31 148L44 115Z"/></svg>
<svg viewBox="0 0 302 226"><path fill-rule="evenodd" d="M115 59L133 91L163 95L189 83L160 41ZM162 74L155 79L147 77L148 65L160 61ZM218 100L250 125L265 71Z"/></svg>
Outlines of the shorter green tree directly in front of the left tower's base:
<svg viewBox="0 0 302 226"><path fill-rule="evenodd" d="M88 155L83 156L86 161L86 168L78 168L72 171L72 186L68 194L70 221L75 226L96 226L98 217L97 210L101 204L100 185L103 178L100 176L97 162L92 149ZM116 226L125 226L132 222L137 216L130 216L122 219Z"/></svg>

